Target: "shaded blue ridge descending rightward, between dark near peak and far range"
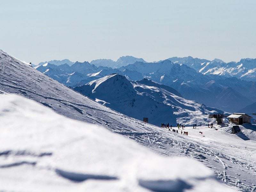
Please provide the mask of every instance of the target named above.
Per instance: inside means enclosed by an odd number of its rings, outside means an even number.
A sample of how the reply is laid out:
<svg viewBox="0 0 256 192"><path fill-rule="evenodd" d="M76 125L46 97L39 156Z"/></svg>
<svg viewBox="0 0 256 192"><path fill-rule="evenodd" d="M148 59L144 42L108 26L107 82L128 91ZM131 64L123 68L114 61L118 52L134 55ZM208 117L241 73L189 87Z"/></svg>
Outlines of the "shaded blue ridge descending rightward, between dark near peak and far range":
<svg viewBox="0 0 256 192"><path fill-rule="evenodd" d="M187 65L172 63L170 60L147 64L136 62L119 68L120 71L125 69L137 71L157 83L168 85L186 99L228 112L239 110L256 100L255 82L234 77L206 76Z"/></svg>

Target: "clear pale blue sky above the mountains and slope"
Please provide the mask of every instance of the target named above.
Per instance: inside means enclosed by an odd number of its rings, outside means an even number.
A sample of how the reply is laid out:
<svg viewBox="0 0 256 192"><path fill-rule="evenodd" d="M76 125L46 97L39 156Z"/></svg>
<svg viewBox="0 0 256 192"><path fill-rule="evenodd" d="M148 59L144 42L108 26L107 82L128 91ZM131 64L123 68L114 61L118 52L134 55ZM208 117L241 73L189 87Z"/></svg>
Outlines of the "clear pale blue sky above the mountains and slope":
<svg viewBox="0 0 256 192"><path fill-rule="evenodd" d="M255 0L8 0L0 49L27 62L256 58Z"/></svg>

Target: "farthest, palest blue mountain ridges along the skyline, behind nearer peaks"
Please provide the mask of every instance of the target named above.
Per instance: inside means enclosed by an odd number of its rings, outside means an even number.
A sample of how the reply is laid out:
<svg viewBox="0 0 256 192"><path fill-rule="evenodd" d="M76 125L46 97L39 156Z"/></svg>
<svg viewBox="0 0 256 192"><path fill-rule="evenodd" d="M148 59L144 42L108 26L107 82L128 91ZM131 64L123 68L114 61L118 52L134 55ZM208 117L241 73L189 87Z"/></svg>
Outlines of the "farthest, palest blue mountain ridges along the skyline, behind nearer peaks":
<svg viewBox="0 0 256 192"><path fill-rule="evenodd" d="M188 57L171 57L167 60L172 61L177 64L184 64L188 67L195 69L196 71L204 74L204 75L219 75L226 77L237 77L240 79L244 79L247 81L256 81L256 59L246 58L241 59L239 62L228 62L225 63L223 60L214 59L214 60L206 60L193 58L191 56ZM111 59L97 59L92 60L90 64L95 65L96 67L109 67L109 68L120 68L135 62L143 62L147 63L142 58L136 58L133 56L122 56L118 60L114 61ZM160 60L156 63L162 62ZM69 66L73 65L75 62L72 62L68 59L65 60L51 60L39 63L37 66L51 63L54 65L63 65L68 64Z"/></svg>

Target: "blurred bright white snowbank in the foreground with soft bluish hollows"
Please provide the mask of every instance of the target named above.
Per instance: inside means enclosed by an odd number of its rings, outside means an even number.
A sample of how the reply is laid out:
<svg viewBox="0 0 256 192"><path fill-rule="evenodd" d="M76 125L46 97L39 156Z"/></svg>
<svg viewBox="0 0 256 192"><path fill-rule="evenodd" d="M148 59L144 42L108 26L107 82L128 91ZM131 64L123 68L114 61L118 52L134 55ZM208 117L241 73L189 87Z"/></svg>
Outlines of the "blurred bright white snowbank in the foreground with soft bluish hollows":
<svg viewBox="0 0 256 192"><path fill-rule="evenodd" d="M187 158L159 156L105 128L0 95L1 191L233 191Z"/></svg>

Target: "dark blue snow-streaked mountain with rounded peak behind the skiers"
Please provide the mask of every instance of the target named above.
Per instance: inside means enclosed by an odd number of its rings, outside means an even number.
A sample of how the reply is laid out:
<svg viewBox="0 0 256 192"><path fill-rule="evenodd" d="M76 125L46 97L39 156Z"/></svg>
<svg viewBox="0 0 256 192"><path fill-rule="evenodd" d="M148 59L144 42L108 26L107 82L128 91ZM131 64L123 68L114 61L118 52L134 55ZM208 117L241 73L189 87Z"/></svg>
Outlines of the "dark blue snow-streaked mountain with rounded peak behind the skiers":
<svg viewBox="0 0 256 192"><path fill-rule="evenodd" d="M208 115L223 111L208 108L195 101L182 98L179 92L150 80L130 82L124 76L111 74L85 85L75 87L77 92L96 100L122 114L161 126L169 123L203 125Z"/></svg>

